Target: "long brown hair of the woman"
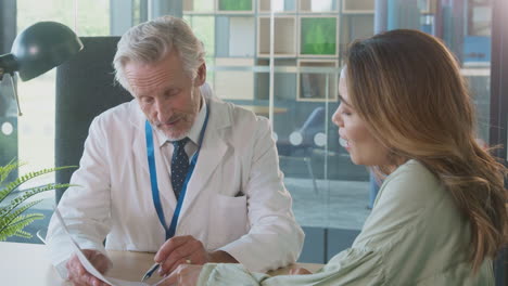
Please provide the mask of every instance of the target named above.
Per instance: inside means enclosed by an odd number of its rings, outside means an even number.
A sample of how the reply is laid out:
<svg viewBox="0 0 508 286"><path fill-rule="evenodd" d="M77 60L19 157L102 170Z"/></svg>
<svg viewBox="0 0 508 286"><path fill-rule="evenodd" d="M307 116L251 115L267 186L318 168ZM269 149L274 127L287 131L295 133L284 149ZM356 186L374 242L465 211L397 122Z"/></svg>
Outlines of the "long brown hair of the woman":
<svg viewBox="0 0 508 286"><path fill-rule="evenodd" d="M427 166L469 219L477 272L506 244L508 171L477 142L474 105L457 61L432 36L392 30L353 42L346 66L351 104L372 134L392 157Z"/></svg>

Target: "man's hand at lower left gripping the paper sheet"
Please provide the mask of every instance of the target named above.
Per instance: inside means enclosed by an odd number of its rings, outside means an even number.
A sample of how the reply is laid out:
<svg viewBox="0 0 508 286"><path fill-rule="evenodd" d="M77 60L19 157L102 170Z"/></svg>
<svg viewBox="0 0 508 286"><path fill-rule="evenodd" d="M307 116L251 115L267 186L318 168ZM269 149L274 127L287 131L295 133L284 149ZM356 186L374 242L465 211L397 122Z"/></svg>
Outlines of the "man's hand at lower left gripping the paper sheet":
<svg viewBox="0 0 508 286"><path fill-rule="evenodd" d="M101 273L105 273L110 269L112 262L107 257L94 249L82 249L82 253L88 261ZM67 280L75 286L106 286L107 284L94 277L82 266L78 257L74 255L65 265L67 268Z"/></svg>

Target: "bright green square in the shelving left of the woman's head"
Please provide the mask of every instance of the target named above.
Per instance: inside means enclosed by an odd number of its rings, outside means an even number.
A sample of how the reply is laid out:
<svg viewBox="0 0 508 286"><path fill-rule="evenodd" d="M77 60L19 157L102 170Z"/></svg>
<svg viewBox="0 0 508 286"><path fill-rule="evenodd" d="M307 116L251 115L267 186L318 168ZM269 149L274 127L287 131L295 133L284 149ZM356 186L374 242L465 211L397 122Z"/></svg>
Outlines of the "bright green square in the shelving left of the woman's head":
<svg viewBox="0 0 508 286"><path fill-rule="evenodd" d="M302 18L302 54L331 54L336 51L336 18Z"/></svg>

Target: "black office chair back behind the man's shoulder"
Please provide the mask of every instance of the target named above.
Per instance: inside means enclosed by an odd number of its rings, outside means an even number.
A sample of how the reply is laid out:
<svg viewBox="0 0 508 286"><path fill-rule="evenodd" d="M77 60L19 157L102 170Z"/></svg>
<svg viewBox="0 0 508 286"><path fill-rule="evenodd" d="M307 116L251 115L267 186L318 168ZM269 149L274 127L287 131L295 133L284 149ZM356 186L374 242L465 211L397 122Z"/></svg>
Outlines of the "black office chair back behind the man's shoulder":
<svg viewBox="0 0 508 286"><path fill-rule="evenodd" d="M80 39L84 50L56 68L55 166L78 166L92 119L132 100L114 82L112 62L119 37ZM74 171L56 171L56 182L68 182ZM56 191L56 203L64 191Z"/></svg>

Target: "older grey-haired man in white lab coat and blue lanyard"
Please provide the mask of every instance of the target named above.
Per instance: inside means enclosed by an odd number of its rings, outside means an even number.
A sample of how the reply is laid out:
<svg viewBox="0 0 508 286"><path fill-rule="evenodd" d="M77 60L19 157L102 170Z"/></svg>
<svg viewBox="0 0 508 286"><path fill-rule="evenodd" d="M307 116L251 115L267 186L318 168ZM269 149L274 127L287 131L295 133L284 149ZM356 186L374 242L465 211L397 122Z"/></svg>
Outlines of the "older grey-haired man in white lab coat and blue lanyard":
<svg viewBox="0 0 508 286"><path fill-rule="evenodd" d="M160 274L181 263L292 263L294 221L265 118L213 98L204 50L189 26L161 17L128 30L114 58L135 98L90 126L79 169L59 209L102 272L106 249L156 251ZM78 285L99 283L64 247L53 218L53 263Z"/></svg>

